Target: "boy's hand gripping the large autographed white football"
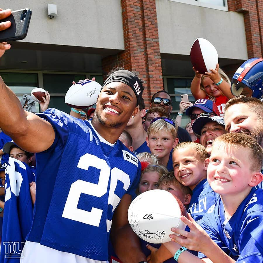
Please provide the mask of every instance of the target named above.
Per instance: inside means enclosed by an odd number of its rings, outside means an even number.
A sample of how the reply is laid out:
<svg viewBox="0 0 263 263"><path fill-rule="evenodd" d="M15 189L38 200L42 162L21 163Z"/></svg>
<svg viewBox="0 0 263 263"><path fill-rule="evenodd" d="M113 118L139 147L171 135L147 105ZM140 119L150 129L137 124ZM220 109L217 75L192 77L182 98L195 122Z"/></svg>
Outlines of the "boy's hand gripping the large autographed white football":
<svg viewBox="0 0 263 263"><path fill-rule="evenodd" d="M209 248L212 239L208 236L205 230L194 221L191 215L188 213L188 219L184 216L181 216L180 219L188 225L190 232L178 228L172 228L174 233L181 235L170 235L172 241L177 242L179 245L190 250L200 252L203 252L204 248Z"/></svg>

